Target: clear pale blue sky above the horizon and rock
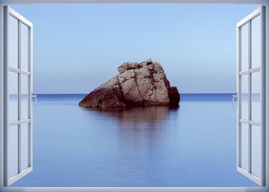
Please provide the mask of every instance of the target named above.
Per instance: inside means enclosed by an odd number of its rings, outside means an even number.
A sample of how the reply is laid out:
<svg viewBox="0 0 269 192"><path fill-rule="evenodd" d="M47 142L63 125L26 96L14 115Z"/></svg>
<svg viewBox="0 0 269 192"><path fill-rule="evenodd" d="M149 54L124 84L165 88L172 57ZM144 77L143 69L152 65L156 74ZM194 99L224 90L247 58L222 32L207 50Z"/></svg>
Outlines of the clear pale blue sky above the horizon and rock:
<svg viewBox="0 0 269 192"><path fill-rule="evenodd" d="M180 93L236 92L236 23L259 5L13 5L34 24L34 93L89 93L161 62Z"/></svg>

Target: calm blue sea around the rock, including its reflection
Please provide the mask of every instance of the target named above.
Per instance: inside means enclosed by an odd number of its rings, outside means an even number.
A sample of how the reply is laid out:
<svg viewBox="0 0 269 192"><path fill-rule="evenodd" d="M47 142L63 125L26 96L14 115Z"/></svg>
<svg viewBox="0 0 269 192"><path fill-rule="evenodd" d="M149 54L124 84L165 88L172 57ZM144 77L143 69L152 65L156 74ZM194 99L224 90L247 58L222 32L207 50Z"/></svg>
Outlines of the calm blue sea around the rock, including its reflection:
<svg viewBox="0 0 269 192"><path fill-rule="evenodd" d="M38 95L34 170L12 187L257 187L236 171L231 94L125 110L83 97Z"/></svg>

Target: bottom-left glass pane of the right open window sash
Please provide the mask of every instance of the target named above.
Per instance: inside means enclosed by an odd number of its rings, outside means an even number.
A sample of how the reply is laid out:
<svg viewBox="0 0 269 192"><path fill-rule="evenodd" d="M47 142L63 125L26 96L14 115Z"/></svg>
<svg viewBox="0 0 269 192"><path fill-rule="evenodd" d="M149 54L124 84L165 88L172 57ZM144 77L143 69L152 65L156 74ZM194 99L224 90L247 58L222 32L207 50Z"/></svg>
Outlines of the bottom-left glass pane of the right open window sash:
<svg viewBox="0 0 269 192"><path fill-rule="evenodd" d="M248 170L248 124L240 125L240 166Z"/></svg>

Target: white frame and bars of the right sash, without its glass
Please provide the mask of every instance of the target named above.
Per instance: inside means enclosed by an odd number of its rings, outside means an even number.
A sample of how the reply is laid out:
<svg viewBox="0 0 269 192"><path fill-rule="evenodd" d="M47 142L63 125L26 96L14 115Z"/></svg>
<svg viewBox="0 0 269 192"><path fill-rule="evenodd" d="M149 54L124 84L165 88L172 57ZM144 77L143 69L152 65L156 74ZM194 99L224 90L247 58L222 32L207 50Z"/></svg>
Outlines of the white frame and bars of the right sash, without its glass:
<svg viewBox="0 0 269 192"><path fill-rule="evenodd" d="M251 12L250 14L248 14L248 16L244 17L244 19L242 19L242 21L239 21L237 23L237 98L238 98L238 102L237 102L237 171L239 171L240 173L242 173L244 176L246 176L247 178L250 178L251 180L253 180L254 182L256 182L257 184L264 186L265 185L265 170L261 170L261 176L257 177L255 176L255 174L252 173L252 163L251 163L251 126L252 125L259 125L259 127L261 128L261 147L262 147L262 151L261 151L261 167L264 166L265 163L265 152L263 151L265 149L264 147L264 128L265 128L265 118L264 117L260 117L259 121L252 121L250 119L242 119L241 118L241 86L242 84L240 83L240 77L242 77L242 75L248 75L248 118L251 118L251 113L252 113L252 108L251 108L251 103L252 103L252 91L251 91L251 75L257 71L261 72L260 73L260 81L261 81L261 96L260 96L260 101L261 101L261 115L265 114L265 71L264 71L264 66L265 66L265 60L264 60L264 56L265 53L262 52L261 53L261 66L260 67L255 67L254 69L251 67L252 66L252 61L250 59L251 57L251 38L252 38L252 34L251 34L251 23L253 21L253 19L255 19L257 16L261 16L261 39L264 38L265 35L265 26L264 26L264 20L265 20L265 13L266 10L264 9L264 6L262 6L261 8L258 8L257 10ZM240 63L241 63L241 45L240 45L240 38L241 38L241 27L246 25L246 23L248 23L248 69L241 71L240 70ZM261 42L261 50L265 49L265 42ZM242 125L242 123L246 123L248 125L248 169L246 170L244 168L241 167L241 156L240 156L240 140L242 139L240 136L240 126ZM241 125L240 125L241 124ZM246 125L245 124L245 125Z"/></svg>

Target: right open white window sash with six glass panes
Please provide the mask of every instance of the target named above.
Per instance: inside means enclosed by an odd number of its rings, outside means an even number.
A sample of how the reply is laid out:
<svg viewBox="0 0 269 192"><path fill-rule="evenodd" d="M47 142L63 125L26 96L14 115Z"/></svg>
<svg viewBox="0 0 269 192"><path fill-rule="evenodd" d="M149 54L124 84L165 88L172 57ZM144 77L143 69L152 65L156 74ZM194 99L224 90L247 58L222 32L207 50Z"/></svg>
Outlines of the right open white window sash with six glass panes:
<svg viewBox="0 0 269 192"><path fill-rule="evenodd" d="M237 23L237 170L265 186L265 7Z"/></svg>

